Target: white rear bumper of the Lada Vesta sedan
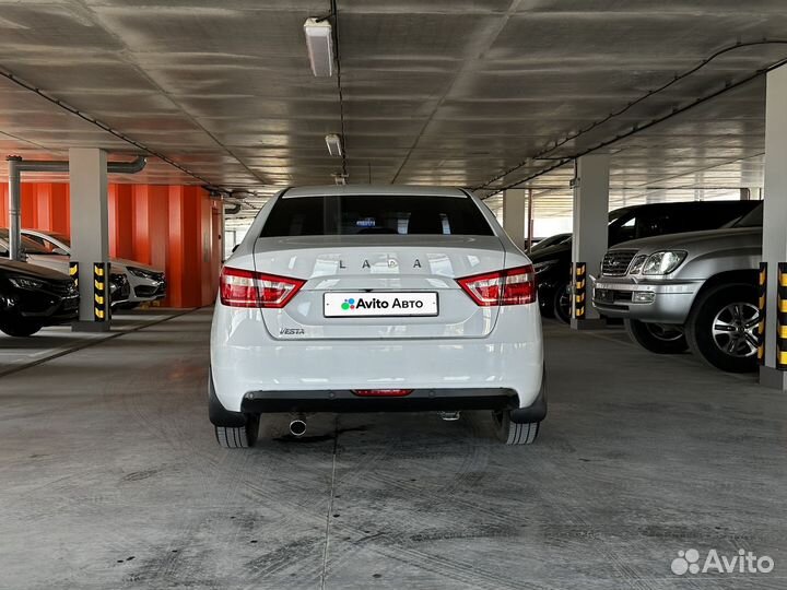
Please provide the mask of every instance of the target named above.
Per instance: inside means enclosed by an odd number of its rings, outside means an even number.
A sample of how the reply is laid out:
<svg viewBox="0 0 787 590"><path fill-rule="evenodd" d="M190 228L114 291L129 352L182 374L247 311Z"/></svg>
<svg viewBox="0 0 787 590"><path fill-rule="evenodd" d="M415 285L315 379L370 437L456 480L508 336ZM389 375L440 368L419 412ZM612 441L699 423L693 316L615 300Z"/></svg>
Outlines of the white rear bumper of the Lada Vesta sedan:
<svg viewBox="0 0 787 590"><path fill-rule="evenodd" d="M268 334L259 310L218 304L211 367L216 397L233 412L244 403L289 408L293 400L313 408L344 400L371 411L406 399L356 398L359 389L413 389L408 401L425 406L504 397L504 405L527 408L541 390L541 318L533 304L501 314L486 338L282 341ZM451 403L446 408L457 409Z"/></svg>

